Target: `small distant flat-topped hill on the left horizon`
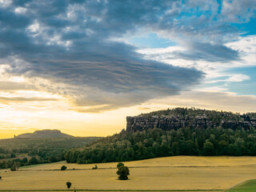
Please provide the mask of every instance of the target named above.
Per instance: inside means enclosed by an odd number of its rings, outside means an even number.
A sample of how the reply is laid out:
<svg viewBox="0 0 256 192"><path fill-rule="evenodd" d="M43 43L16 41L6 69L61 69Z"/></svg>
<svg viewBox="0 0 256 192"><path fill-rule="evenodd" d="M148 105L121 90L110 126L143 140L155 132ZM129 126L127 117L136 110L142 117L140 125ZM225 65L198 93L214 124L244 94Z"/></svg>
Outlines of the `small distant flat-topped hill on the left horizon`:
<svg viewBox="0 0 256 192"><path fill-rule="evenodd" d="M34 133L19 134L15 138L74 138L74 136L63 134L60 130L36 130Z"/></svg>

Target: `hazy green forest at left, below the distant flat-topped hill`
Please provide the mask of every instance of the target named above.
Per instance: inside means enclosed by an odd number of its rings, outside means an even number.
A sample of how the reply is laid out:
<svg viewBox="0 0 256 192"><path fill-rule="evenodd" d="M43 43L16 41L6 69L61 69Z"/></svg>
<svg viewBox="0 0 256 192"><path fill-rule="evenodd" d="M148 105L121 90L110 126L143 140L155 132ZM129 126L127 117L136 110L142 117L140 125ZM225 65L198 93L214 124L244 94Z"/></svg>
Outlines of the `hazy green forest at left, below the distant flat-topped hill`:
<svg viewBox="0 0 256 192"><path fill-rule="evenodd" d="M0 169L65 160L66 150L86 146L88 138L8 138L0 139Z"/></svg>

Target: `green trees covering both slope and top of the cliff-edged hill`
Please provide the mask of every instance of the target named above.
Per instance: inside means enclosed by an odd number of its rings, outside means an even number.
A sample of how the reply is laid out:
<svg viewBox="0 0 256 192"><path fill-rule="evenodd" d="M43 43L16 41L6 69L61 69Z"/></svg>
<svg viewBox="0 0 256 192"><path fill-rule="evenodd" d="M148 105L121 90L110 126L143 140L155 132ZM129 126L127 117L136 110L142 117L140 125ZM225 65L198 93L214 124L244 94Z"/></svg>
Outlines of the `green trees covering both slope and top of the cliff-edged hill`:
<svg viewBox="0 0 256 192"><path fill-rule="evenodd" d="M172 113L172 114L171 114ZM67 162L119 162L171 155L256 155L256 130L254 126L244 129L239 122L248 118L254 121L255 114L232 114L214 110L178 108L162 110L139 117L162 118L170 115L182 116L186 120L198 115L210 119L210 126L194 126L188 123L175 129L148 127L141 131L122 130L120 134L102 138L90 146L68 150ZM238 122L236 128L216 126L215 122ZM190 122L190 121L189 121ZM193 122L193 121L192 121ZM146 122L140 122L141 124ZM214 126L213 126L214 125Z"/></svg>

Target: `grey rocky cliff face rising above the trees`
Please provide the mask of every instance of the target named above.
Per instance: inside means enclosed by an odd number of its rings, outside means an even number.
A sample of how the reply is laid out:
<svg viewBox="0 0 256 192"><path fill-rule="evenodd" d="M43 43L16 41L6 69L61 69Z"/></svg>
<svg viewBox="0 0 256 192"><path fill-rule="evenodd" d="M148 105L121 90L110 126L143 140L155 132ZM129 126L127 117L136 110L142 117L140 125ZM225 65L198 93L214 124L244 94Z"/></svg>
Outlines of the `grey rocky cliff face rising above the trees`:
<svg viewBox="0 0 256 192"><path fill-rule="evenodd" d="M134 116L126 117L126 130L131 132L148 130L153 128L160 128L162 130L178 130L178 128L191 126L193 128L217 127L230 128L232 130L242 127L249 130L250 126L256 128L256 118L249 118L248 116L241 116L241 121L211 121L206 114L198 115L194 118L184 116Z"/></svg>

